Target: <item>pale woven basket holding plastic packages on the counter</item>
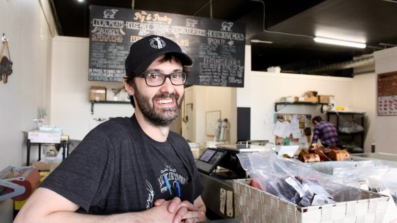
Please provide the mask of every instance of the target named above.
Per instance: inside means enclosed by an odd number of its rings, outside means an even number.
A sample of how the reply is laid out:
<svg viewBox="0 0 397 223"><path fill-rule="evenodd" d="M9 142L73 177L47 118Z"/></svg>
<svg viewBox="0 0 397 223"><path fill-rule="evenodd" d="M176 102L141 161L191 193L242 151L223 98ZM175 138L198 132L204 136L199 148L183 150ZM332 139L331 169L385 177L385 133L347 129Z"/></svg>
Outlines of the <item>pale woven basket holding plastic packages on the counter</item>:
<svg viewBox="0 0 397 223"><path fill-rule="evenodd" d="M236 217L243 223L382 223L389 200L361 190L357 201L300 207L248 183L233 181Z"/></svg>

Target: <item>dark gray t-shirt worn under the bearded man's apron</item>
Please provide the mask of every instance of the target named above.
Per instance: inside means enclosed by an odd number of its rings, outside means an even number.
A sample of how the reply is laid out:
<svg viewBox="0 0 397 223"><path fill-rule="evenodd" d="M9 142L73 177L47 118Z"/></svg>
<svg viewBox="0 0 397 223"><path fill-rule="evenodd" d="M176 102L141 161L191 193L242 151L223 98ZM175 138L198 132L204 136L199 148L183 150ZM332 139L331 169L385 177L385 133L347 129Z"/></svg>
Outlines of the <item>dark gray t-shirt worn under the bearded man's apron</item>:
<svg viewBox="0 0 397 223"><path fill-rule="evenodd" d="M154 197L164 193L160 180L150 182L148 165L153 164L155 171L164 171L168 167L169 177L191 179L194 199L203 193L204 187L197 172L194 158L186 140L174 132L169 132L174 145L182 151L192 176L188 176L178 156L171 152L163 153L164 148L152 151L149 137L146 143L150 150L150 160L143 156L139 148L136 131L132 131L130 118L113 118L92 130L73 152L41 184L82 209L93 214L112 214L143 211L151 208ZM133 134L135 132L135 134ZM151 140L148 140L148 138ZM149 142L148 142L149 141ZM159 143L159 144L167 144ZM164 146L169 149L169 145ZM172 148L171 148L172 149ZM82 210L79 212L82 212Z"/></svg>

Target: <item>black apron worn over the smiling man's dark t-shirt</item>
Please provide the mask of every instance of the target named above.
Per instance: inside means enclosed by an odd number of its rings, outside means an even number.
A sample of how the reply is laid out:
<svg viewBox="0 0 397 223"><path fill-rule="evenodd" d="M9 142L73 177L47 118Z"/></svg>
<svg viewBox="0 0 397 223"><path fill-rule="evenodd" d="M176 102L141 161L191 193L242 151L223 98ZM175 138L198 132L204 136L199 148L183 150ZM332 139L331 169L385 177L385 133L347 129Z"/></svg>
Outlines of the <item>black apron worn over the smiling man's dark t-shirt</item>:
<svg viewBox="0 0 397 223"><path fill-rule="evenodd" d="M164 199L166 201L168 200L172 200L174 197L178 196L177 190L174 188L174 185L172 183L169 183L172 186L172 195L169 193L168 189L167 192L161 194L160 192L160 185L157 181L156 178L156 172L154 171L153 165L152 165L152 160L150 157L150 151L148 149L148 146L145 142L145 136L144 136L144 132L143 130L140 128L140 125L138 123L138 121L136 120L135 114L133 114L130 118L131 123L132 123L132 130L133 133L135 135L136 141L138 143L139 149L142 153L142 158L143 160L148 162L148 166L146 166L146 168L144 169L144 171L146 172L146 176L148 177L148 181L150 182L150 184L153 185L153 187L155 187L155 196L153 199L153 203L158 200L158 199ZM177 153L179 160L182 161L183 165L185 166L187 172L189 173L189 179L188 182L186 182L185 184L180 184L180 191L181 191L181 200L182 201L189 201L190 203L193 204L194 202L194 185L192 182L192 170L190 168L190 166L187 164L187 162L185 161L184 157L182 157L180 154L182 154L182 152L180 151L179 147L176 147L174 144L174 141L171 137L167 137L167 140L169 141L169 143L171 143L172 147L174 148L174 151ZM165 179L164 179L165 181ZM152 204L153 204L152 203Z"/></svg>

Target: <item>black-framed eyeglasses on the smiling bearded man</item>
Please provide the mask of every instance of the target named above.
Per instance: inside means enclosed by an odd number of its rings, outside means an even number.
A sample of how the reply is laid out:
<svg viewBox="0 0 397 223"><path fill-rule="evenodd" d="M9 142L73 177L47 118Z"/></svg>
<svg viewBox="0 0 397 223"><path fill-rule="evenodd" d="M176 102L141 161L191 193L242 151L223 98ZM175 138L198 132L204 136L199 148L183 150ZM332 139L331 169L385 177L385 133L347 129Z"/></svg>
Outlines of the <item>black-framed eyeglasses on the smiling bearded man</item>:
<svg viewBox="0 0 397 223"><path fill-rule="evenodd" d="M186 73L185 72L176 72L172 74L161 74L161 73L146 73L146 74L137 74L136 77L145 78L145 82L148 86L157 87L161 86L166 78L171 80L171 83L174 85L183 85L186 82Z"/></svg>

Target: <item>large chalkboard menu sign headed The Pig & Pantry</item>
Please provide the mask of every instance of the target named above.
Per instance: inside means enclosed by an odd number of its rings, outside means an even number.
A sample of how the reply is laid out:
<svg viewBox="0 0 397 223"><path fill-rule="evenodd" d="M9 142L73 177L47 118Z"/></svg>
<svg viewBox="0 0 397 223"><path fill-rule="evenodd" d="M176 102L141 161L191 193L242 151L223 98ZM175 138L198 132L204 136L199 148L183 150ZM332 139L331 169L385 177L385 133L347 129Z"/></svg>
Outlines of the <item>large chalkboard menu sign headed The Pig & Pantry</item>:
<svg viewBox="0 0 397 223"><path fill-rule="evenodd" d="M122 81L131 44L149 35L192 58L187 85L244 87L244 23L102 6L91 7L89 80Z"/></svg>

